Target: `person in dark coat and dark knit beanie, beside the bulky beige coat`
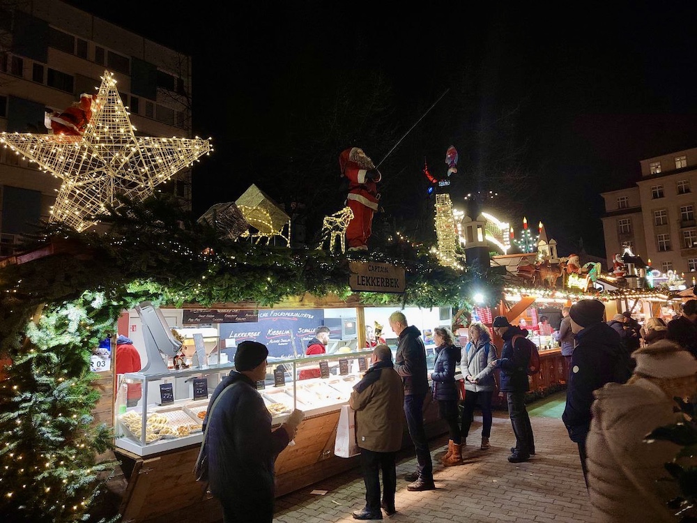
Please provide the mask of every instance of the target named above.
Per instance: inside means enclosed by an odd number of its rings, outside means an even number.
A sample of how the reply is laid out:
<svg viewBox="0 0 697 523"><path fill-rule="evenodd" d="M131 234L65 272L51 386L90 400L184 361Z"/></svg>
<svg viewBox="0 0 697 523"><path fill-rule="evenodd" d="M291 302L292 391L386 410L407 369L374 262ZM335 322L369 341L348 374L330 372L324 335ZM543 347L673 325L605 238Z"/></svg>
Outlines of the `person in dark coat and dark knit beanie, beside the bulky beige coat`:
<svg viewBox="0 0 697 523"><path fill-rule="evenodd" d="M606 324L605 305L598 300L581 300L569 311L576 349L572 355L572 372L567 388L567 402L562 420L569 438L579 445L583 478L585 438L592 418L593 392L611 381L625 383L631 375L631 358L620 343L620 335ZM588 486L588 480L586 480Z"/></svg>

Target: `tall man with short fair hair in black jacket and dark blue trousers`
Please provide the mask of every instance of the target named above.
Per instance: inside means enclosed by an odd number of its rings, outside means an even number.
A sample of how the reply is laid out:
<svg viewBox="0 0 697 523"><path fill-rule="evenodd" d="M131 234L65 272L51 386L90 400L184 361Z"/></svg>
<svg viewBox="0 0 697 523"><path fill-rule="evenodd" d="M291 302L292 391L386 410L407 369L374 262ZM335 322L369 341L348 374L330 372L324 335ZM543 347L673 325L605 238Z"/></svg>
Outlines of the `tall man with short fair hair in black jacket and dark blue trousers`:
<svg viewBox="0 0 697 523"><path fill-rule="evenodd" d="M404 414L411 441L416 448L418 469L407 479L414 480L407 490L434 490L434 465L431 461L429 442L424 430L424 399L429 391L429 377L426 370L426 347L421 339L421 331L408 326L404 313L397 310L390 314L390 327L399 336L395 370L404 382Z"/></svg>

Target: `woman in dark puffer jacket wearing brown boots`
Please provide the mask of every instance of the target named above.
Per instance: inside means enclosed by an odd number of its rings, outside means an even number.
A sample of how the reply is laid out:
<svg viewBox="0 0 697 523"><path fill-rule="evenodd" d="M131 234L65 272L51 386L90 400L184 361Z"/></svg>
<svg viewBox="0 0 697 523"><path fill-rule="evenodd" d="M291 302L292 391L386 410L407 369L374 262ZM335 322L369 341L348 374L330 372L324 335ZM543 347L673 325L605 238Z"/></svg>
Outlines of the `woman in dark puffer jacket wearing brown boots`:
<svg viewBox="0 0 697 523"><path fill-rule="evenodd" d="M436 342L436 363L431 372L431 394L438 401L438 417L447 422L450 440L447 453L441 462L445 467L462 464L460 446L460 427L457 423L457 384L455 384L455 367L457 367L457 347L453 344L452 332L447 327L434 328Z"/></svg>

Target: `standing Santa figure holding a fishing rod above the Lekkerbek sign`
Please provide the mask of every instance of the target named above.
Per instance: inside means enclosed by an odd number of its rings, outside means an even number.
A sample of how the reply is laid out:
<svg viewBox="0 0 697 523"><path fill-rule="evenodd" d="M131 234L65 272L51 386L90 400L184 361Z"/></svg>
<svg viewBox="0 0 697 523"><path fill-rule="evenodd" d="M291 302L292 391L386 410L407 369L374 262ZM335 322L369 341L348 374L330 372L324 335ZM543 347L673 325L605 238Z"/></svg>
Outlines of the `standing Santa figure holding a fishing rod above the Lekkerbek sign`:
<svg viewBox="0 0 697 523"><path fill-rule="evenodd" d="M368 250L373 213L378 210L380 194L377 183L381 174L373 160L362 149L351 147L339 155L342 176L348 179L346 204L353 211L353 220L346 229L348 250Z"/></svg>

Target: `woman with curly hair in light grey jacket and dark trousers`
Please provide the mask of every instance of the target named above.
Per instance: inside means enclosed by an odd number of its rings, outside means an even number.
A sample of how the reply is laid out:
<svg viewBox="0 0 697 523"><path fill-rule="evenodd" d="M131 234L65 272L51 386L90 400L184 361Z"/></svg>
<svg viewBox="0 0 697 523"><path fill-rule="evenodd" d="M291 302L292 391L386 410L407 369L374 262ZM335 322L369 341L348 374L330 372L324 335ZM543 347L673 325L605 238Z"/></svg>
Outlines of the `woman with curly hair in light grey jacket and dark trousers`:
<svg viewBox="0 0 697 523"><path fill-rule="evenodd" d="M496 347L491 343L489 329L484 324L473 323L469 328L470 341L462 351L460 372L465 379L465 401L462 410L462 443L466 444L477 403L482 408L482 450L491 445L491 395L493 395L494 368L491 362L498 358Z"/></svg>

